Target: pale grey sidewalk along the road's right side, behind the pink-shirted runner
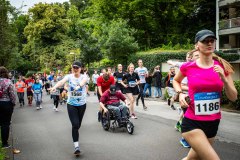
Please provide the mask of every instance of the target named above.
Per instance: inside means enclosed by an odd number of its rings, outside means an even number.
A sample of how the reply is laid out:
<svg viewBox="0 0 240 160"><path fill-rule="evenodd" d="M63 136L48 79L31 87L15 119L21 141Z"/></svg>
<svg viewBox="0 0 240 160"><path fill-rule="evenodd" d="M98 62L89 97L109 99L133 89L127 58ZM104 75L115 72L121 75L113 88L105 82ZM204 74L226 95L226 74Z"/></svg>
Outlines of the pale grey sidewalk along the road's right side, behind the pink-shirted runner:
<svg viewBox="0 0 240 160"><path fill-rule="evenodd" d="M172 110L167 102L156 98L146 98L147 111L142 108L142 103L139 100L139 106L135 107L135 111L147 115L155 115L165 119L177 120L179 119L178 111ZM179 107L175 103L175 108ZM222 120L219 125L217 139L229 143L240 144L240 114L222 111ZM173 126L174 129L174 126Z"/></svg>

